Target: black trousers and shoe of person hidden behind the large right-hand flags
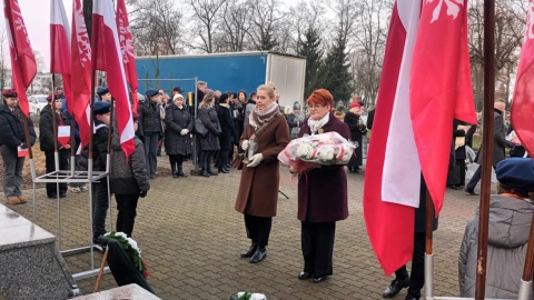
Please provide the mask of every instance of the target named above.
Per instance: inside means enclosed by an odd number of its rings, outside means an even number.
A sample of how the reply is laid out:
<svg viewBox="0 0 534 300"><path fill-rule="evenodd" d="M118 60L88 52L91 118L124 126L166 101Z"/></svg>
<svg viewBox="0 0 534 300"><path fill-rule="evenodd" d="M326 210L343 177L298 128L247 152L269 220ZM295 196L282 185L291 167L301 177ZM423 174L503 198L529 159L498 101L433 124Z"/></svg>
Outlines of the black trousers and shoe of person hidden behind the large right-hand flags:
<svg viewBox="0 0 534 300"><path fill-rule="evenodd" d="M395 271L397 278L406 278L406 266ZM414 254L412 256L412 274L409 276L408 294L419 299L425 286L425 232L414 233Z"/></svg>

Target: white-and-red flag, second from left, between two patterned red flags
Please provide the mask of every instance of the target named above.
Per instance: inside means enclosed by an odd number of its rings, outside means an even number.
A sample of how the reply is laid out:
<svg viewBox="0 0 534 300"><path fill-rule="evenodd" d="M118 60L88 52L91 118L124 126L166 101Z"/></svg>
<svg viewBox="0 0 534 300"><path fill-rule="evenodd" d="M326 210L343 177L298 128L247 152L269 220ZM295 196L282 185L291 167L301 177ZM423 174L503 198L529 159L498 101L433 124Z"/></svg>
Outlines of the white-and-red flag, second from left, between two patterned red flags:
<svg viewBox="0 0 534 300"><path fill-rule="evenodd" d="M50 1L50 72L61 74L67 108L72 114L70 26L62 0Z"/></svg>

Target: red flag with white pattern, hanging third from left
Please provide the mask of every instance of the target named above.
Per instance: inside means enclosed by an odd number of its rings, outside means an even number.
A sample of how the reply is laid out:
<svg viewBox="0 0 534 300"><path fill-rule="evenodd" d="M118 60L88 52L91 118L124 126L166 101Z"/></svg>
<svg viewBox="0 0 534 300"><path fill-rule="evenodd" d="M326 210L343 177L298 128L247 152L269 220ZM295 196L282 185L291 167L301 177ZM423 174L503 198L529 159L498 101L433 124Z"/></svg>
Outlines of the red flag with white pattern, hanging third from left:
<svg viewBox="0 0 534 300"><path fill-rule="evenodd" d="M91 99L91 41L83 19L83 8L80 0L72 3L71 36L72 73L72 110L80 131L80 149L89 144L91 138L90 123L92 116L89 108Z"/></svg>

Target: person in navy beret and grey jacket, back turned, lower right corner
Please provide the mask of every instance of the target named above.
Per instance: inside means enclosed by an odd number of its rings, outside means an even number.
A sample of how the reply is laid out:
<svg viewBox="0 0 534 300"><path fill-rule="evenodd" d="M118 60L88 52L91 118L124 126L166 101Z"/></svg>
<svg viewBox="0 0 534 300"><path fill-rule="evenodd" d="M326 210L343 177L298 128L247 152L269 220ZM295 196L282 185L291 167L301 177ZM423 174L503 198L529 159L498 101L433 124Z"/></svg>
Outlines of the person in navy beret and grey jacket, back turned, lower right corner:
<svg viewBox="0 0 534 300"><path fill-rule="evenodd" d="M490 196L486 297L518 299L534 201L534 160L511 158L495 168L497 194ZM459 248L458 281L462 297L475 296L478 248L478 209L467 223ZM532 299L532 297L531 297Z"/></svg>

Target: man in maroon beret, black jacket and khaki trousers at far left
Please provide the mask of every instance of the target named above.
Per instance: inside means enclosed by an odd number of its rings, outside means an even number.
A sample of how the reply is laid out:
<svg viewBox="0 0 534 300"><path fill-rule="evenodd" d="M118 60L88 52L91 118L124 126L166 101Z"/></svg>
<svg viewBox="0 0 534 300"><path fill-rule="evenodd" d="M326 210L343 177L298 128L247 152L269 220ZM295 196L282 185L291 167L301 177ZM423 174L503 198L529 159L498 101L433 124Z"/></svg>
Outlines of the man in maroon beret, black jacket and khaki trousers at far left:
<svg viewBox="0 0 534 300"><path fill-rule="evenodd" d="M23 122L28 122L30 147L36 142L37 136L33 122L19 109L17 91L12 89L2 91L3 102L0 104L0 152L3 161L3 193L6 203L26 203L28 198L22 196L22 167L24 157L18 156L19 149L27 149Z"/></svg>

